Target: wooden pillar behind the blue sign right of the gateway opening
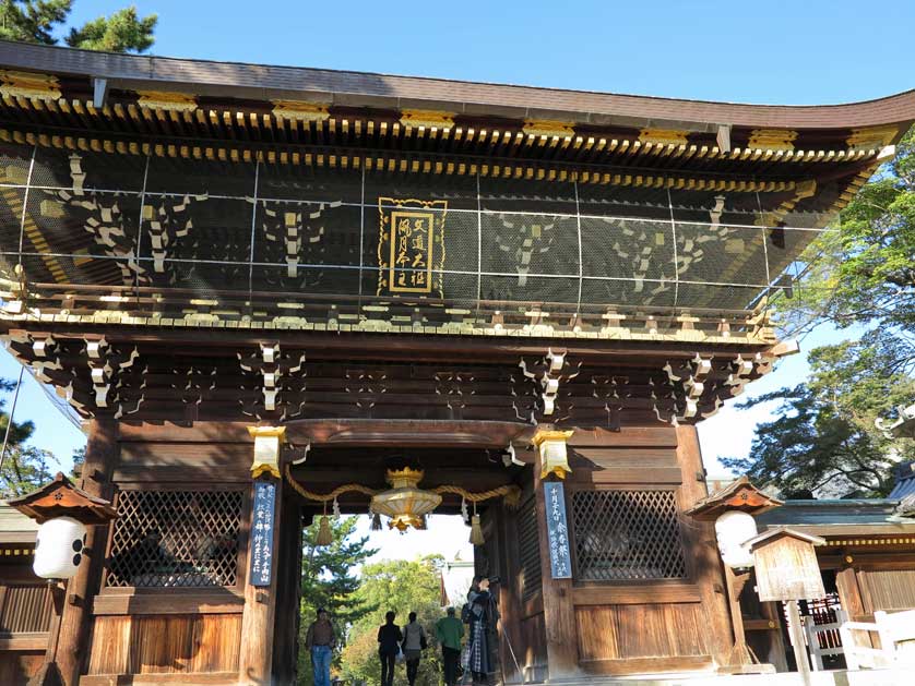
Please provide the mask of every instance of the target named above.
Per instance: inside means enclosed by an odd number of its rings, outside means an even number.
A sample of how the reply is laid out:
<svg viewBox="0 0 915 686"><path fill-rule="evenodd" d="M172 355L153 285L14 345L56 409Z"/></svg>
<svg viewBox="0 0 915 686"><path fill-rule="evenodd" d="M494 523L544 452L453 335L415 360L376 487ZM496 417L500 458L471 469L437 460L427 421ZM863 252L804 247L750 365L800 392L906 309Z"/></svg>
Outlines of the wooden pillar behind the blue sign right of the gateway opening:
<svg viewBox="0 0 915 686"><path fill-rule="evenodd" d="M546 627L547 678L557 681L578 676L579 646L572 579L554 579L550 574L547 507L540 480L539 456L534 468L534 497L543 570L544 625ZM568 502L568 501L567 501Z"/></svg>

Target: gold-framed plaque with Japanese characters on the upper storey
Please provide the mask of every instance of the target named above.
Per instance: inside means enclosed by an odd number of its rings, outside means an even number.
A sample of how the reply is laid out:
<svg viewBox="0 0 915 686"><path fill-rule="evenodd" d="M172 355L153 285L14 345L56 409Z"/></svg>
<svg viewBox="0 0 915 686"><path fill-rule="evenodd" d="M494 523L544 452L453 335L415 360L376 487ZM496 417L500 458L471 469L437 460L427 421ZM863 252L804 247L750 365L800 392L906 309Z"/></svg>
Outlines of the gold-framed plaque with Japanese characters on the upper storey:
<svg viewBox="0 0 915 686"><path fill-rule="evenodd" d="M379 197L378 293L443 298L447 201Z"/></svg>

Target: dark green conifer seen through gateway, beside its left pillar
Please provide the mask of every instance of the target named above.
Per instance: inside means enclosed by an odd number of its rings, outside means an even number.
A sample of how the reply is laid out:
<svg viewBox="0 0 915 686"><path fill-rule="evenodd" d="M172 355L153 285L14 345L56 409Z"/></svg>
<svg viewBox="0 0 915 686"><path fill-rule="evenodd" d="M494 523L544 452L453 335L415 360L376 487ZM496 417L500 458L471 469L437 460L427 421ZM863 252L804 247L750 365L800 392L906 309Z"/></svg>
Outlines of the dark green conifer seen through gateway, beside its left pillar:
<svg viewBox="0 0 915 686"><path fill-rule="evenodd" d="M324 607L336 627L338 649L342 647L349 627L372 612L375 607L357 593L360 580L356 576L358 567L377 552L367 547L368 538L354 535L357 517L330 518L333 542L330 545L316 545L318 521L302 531L301 565L301 626L300 643L305 645L305 634L314 619L318 607ZM340 654L334 657L340 664ZM313 676L309 655L299 650L299 683L311 684Z"/></svg>

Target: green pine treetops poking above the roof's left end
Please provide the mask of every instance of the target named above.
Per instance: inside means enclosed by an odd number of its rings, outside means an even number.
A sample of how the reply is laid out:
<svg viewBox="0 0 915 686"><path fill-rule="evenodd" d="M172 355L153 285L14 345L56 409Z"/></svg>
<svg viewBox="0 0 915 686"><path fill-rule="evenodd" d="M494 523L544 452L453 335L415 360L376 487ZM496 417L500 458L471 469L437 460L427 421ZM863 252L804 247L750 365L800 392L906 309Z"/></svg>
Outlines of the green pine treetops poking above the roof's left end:
<svg viewBox="0 0 915 686"><path fill-rule="evenodd" d="M73 0L0 0L0 38L21 43L57 45ZM158 17L141 17L135 7L99 16L83 26L71 26L64 38L71 48L109 52L143 52L153 45Z"/></svg>

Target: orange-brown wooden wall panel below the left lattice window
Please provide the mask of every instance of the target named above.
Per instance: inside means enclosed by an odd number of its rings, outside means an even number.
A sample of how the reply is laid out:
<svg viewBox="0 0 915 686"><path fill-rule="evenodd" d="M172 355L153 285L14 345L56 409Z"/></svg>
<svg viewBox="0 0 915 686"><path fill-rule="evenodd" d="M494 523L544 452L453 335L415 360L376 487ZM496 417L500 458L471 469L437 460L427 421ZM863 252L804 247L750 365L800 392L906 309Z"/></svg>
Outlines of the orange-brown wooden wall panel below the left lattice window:
<svg viewBox="0 0 915 686"><path fill-rule="evenodd" d="M90 674L235 672L241 615L96 617Z"/></svg>

